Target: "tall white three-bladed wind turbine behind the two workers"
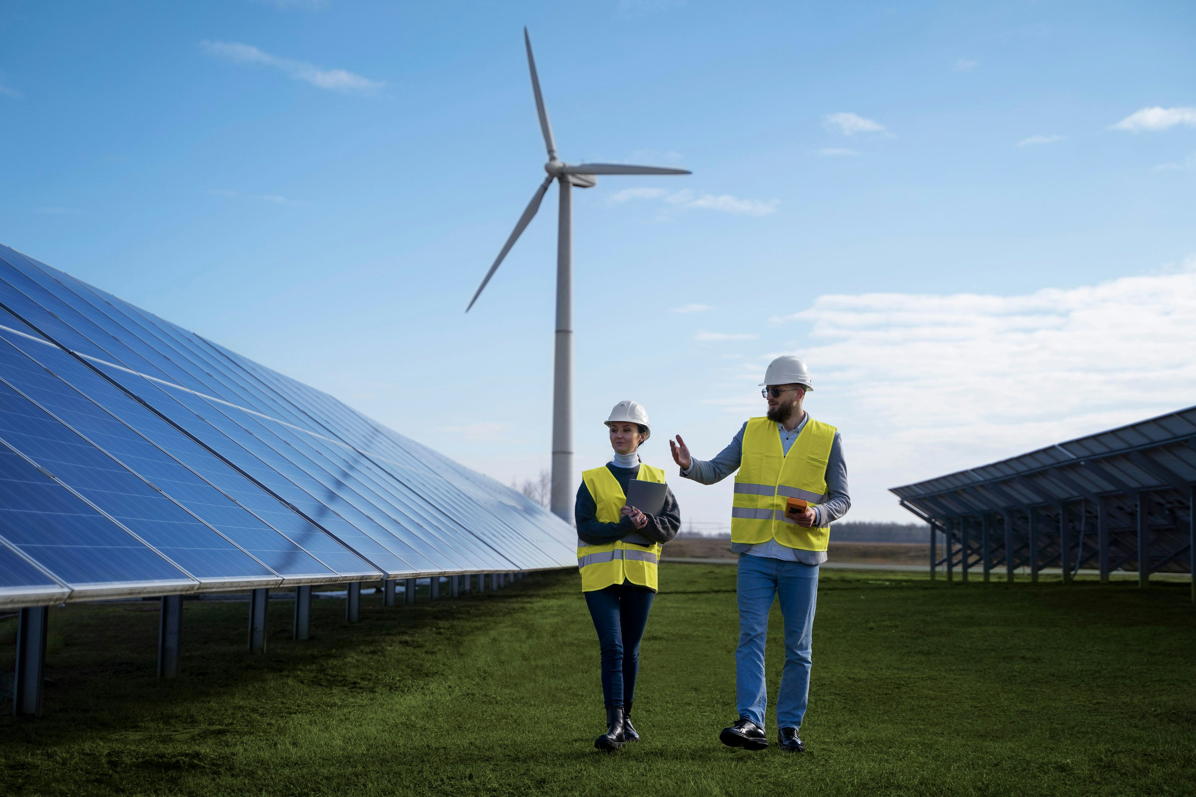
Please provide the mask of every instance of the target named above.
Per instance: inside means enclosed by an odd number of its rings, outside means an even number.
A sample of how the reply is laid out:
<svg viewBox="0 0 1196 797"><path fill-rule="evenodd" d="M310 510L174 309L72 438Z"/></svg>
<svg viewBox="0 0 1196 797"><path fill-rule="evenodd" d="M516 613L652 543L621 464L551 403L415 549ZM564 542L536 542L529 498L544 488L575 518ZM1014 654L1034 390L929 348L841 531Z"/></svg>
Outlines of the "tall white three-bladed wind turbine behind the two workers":
<svg viewBox="0 0 1196 797"><path fill-rule="evenodd" d="M486 283L498 270L502 258L519 240L520 233L527 227L541 200L548 192L548 186L556 180L561 186L561 204L557 211L556 227L556 351L553 363L553 490L549 507L554 514L568 521L573 511L573 201L570 190L593 188L597 174L689 174L684 168L664 168L660 166L629 166L627 164L576 164L561 163L556 157L556 142L553 140L553 128L548 123L548 111L544 110L544 97L539 93L539 76L536 74L536 59L531 54L531 38L524 27L524 45L527 48L527 68L531 70L531 88L536 94L536 111L539 114L539 129L544 134L544 146L548 147L548 163L544 171L548 177L536 189L531 202L524 209L514 231L502 245L494 265L486 272L482 284L469 301L468 313L477 298L482 295Z"/></svg>

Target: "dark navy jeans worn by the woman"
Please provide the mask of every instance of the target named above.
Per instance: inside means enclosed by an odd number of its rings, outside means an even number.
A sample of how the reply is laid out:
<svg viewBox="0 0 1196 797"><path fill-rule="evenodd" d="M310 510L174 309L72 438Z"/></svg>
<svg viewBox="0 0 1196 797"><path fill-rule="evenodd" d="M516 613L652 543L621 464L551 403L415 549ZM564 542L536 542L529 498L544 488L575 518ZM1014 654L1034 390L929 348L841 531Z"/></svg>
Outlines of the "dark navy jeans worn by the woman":
<svg viewBox="0 0 1196 797"><path fill-rule="evenodd" d="M640 639L655 593L624 581L584 594L602 646L602 693L606 707L627 705L635 697Z"/></svg>

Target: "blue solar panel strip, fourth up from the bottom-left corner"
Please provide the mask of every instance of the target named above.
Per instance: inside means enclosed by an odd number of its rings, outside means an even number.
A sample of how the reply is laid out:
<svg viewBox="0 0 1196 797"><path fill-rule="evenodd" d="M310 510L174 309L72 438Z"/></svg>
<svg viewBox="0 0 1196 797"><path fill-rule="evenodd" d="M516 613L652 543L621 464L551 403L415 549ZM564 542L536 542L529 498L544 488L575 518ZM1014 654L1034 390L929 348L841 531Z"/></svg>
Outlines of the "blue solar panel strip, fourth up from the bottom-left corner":
<svg viewBox="0 0 1196 797"><path fill-rule="evenodd" d="M56 351L69 356L61 350ZM275 572L289 576L334 575L294 542L238 507L169 454L7 343L0 343L0 374L26 398L183 504ZM132 399L126 400L133 403Z"/></svg>

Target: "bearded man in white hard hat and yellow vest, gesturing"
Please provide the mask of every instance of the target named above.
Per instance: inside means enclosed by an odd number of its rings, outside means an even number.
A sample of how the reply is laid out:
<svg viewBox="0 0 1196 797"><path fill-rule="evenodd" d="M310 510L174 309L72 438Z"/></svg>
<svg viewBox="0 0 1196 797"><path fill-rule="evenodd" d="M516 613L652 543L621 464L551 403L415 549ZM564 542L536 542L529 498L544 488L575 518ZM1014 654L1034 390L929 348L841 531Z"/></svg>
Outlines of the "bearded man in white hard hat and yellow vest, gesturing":
<svg viewBox="0 0 1196 797"><path fill-rule="evenodd" d="M768 747L764 711L764 639L768 612L780 596L785 618L785 669L776 699L781 748L801 753L798 736L810 693L810 642L818 565L826 560L830 523L847 514L847 464L835 427L814 421L801 404L813 390L806 363L777 357L761 391L768 415L749 418L731 445L710 461L690 456L685 442L669 441L681 474L700 484L736 474L731 550L739 553L739 646L736 704L739 719L719 740L730 747Z"/></svg>

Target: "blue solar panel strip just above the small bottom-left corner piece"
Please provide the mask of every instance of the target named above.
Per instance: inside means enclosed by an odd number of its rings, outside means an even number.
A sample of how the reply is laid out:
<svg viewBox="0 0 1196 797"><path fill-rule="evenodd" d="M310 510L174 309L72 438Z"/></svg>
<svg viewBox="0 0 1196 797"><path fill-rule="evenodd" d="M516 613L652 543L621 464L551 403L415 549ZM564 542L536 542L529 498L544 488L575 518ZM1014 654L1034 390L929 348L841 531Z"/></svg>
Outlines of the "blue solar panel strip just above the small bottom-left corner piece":
<svg viewBox="0 0 1196 797"><path fill-rule="evenodd" d="M189 581L4 445L0 521L0 537L67 584Z"/></svg>

